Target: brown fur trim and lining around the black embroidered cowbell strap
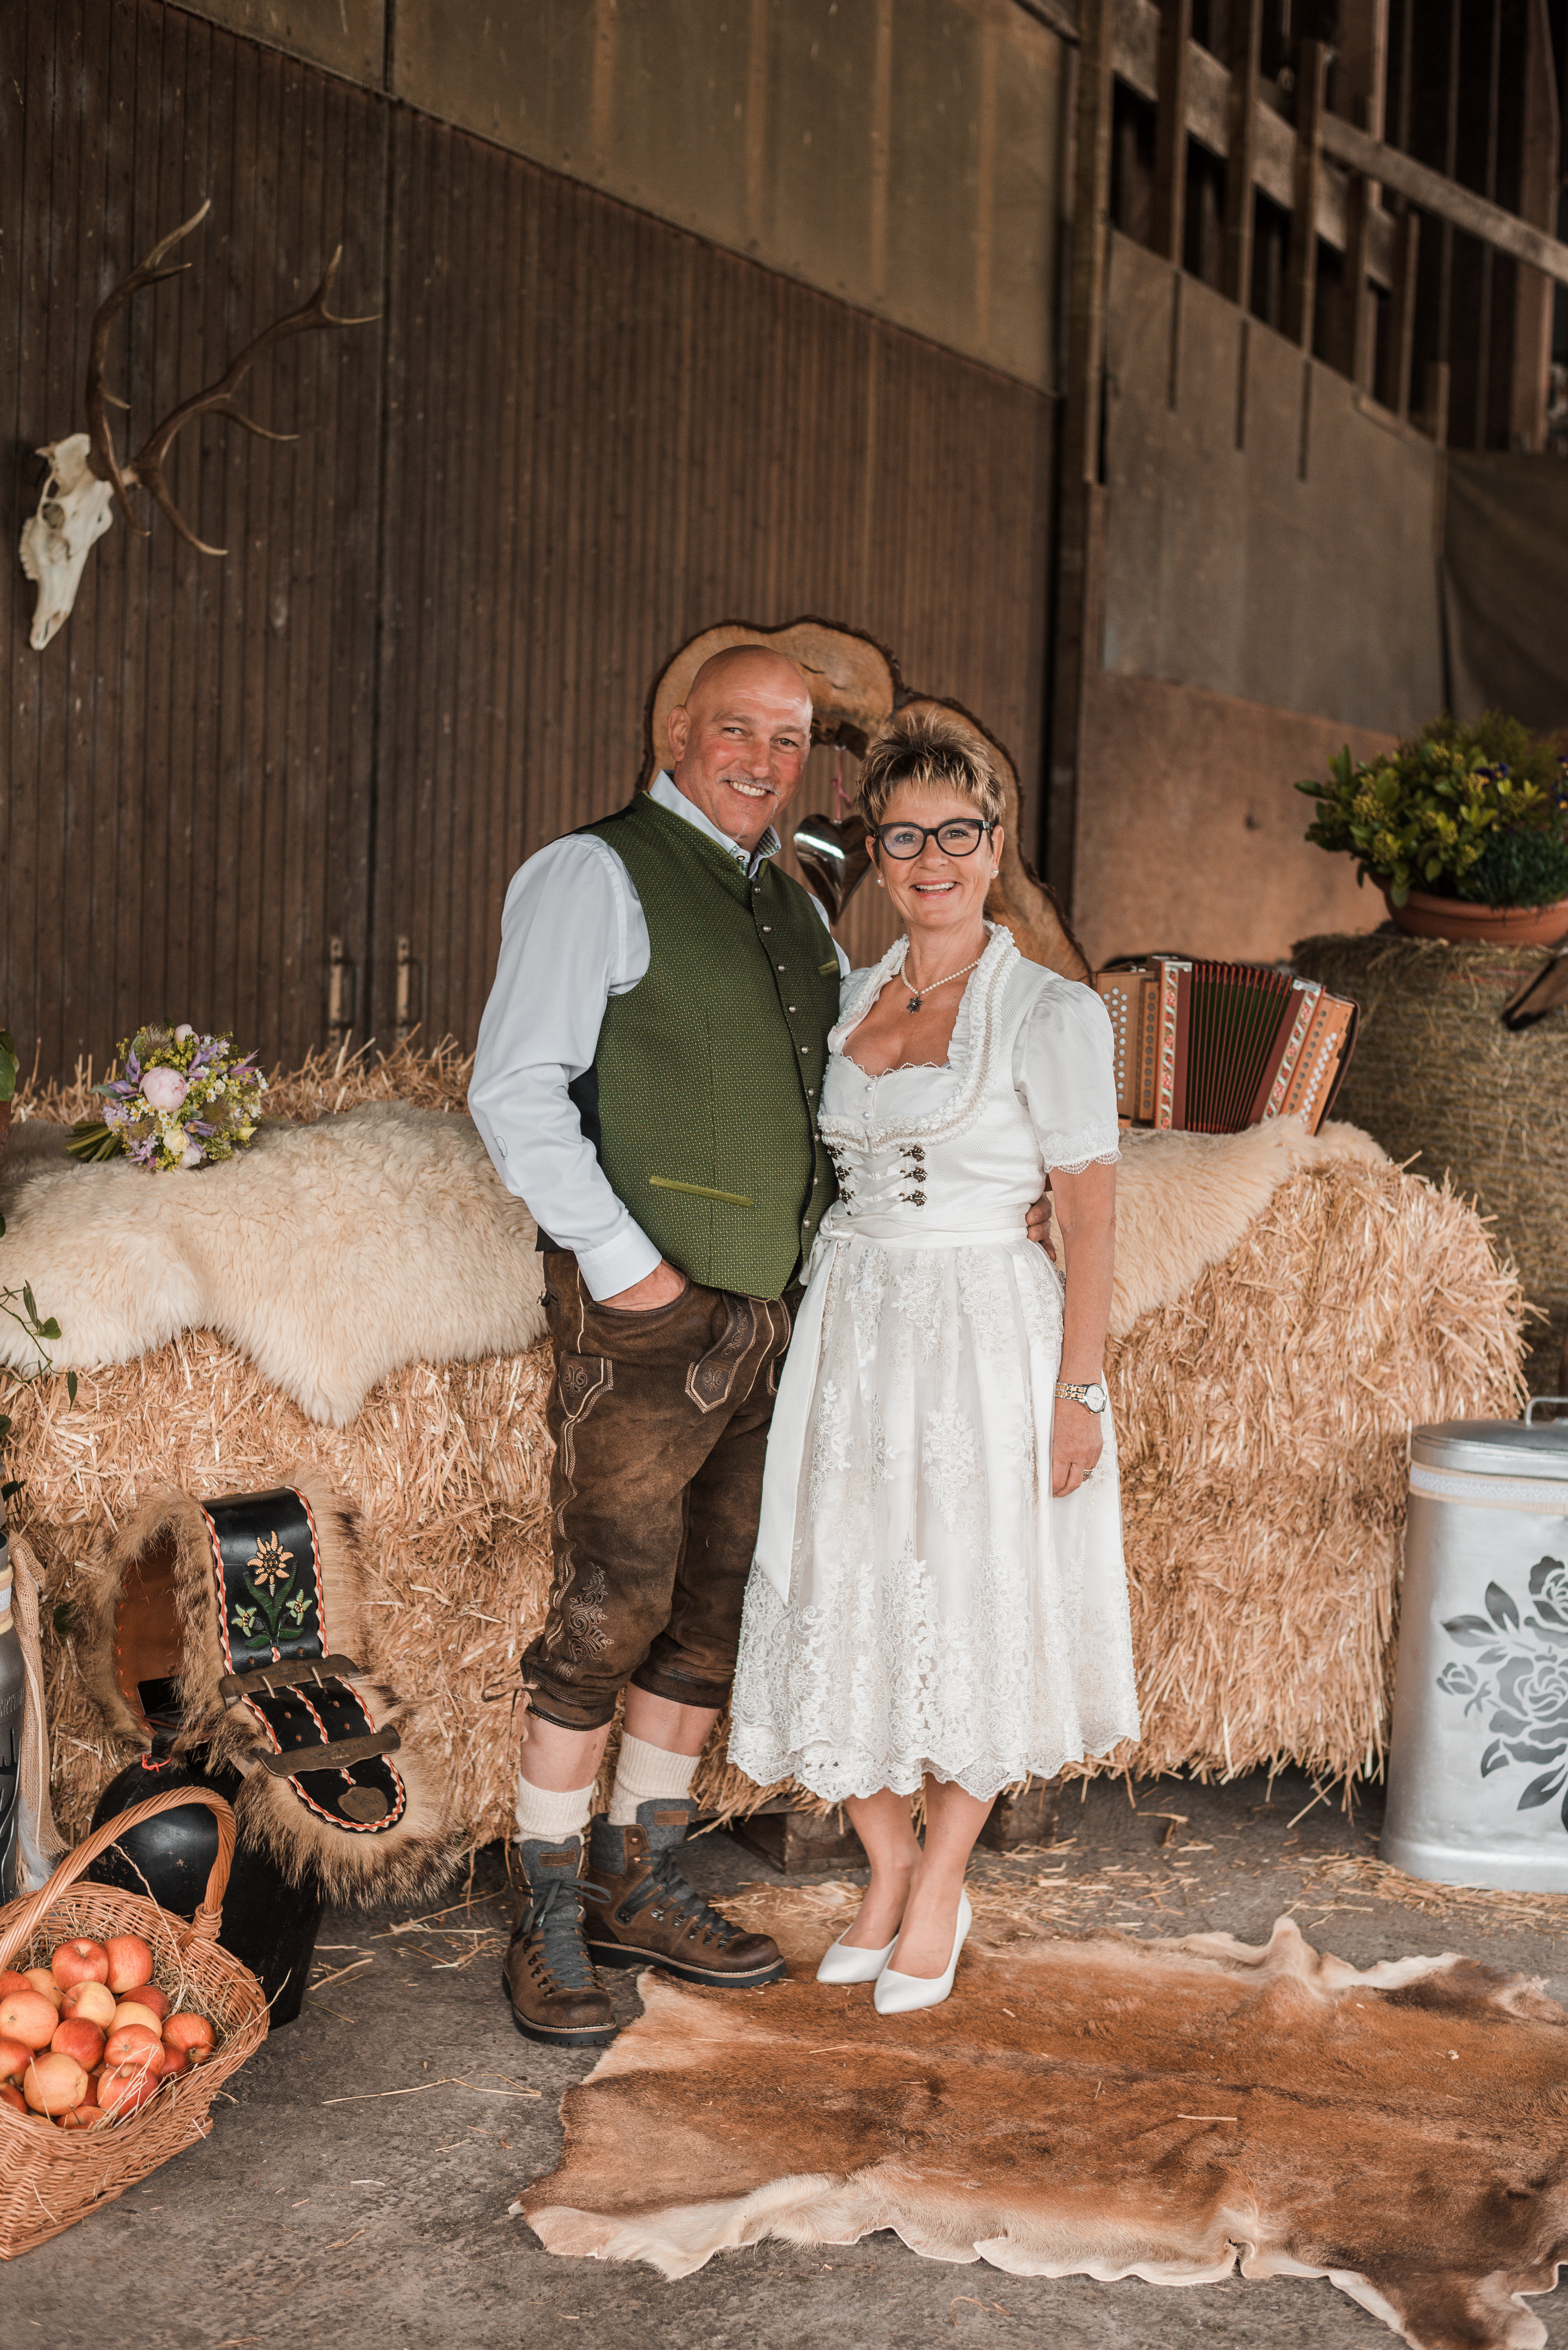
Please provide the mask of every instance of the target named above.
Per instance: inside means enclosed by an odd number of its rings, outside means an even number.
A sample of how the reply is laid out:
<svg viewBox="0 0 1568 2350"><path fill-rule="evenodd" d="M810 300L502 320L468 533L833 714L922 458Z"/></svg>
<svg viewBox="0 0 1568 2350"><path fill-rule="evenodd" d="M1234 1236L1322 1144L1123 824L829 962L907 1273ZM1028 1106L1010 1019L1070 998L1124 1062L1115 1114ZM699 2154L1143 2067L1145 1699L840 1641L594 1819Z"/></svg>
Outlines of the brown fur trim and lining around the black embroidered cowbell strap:
<svg viewBox="0 0 1568 2350"><path fill-rule="evenodd" d="M299 1488L310 1502L329 1645L336 1654L362 1659L367 1622L357 1511L320 1469L292 1469L280 1483ZM92 1586L78 1654L82 1680L110 1732L143 1748L150 1746L150 1730L134 1701L136 1683L162 1676L179 1683L179 1751L205 1746L214 1767L244 1774L235 1819L289 1878L299 1880L315 1866L329 1901L416 1901L451 1875L456 1821L440 1744L421 1725L418 1706L404 1704L383 1683L360 1678L355 1690L374 1727L390 1727L402 1739L388 1758L409 1795L397 1826L378 1835L343 1833L306 1810L289 1779L259 1767L273 1751L259 1716L242 1701L226 1704L219 1692L226 1666L212 1549L190 1495L160 1492L120 1530Z"/></svg>

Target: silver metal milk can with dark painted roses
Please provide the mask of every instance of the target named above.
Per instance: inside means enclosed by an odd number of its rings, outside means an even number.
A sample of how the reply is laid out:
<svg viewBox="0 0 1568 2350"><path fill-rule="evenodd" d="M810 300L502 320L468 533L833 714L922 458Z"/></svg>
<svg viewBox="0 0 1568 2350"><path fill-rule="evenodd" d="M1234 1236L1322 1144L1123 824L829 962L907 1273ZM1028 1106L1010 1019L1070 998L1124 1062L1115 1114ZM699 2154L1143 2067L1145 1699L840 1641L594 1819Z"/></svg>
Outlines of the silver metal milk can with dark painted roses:
<svg viewBox="0 0 1568 2350"><path fill-rule="evenodd" d="M1568 1894L1568 1422L1533 1410L1410 1436L1380 1849L1439 1885Z"/></svg>

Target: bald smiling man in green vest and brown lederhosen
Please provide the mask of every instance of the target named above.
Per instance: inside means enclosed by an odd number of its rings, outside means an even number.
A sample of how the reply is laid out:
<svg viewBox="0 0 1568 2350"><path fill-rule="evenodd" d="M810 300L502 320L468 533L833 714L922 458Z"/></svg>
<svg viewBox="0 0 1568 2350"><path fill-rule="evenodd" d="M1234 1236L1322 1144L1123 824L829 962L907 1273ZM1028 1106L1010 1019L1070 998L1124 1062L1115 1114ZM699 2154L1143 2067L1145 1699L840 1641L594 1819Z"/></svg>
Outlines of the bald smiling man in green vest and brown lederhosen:
<svg viewBox="0 0 1568 2350"><path fill-rule="evenodd" d="M555 1347L550 1612L524 1652L520 2033L614 2037L599 1967L783 1976L684 1880L729 1697L802 1264L835 1196L816 1114L849 968L771 862L811 747L795 663L715 653L628 808L515 874L468 1104L538 1222ZM609 1814L583 1838L625 1690Z"/></svg>

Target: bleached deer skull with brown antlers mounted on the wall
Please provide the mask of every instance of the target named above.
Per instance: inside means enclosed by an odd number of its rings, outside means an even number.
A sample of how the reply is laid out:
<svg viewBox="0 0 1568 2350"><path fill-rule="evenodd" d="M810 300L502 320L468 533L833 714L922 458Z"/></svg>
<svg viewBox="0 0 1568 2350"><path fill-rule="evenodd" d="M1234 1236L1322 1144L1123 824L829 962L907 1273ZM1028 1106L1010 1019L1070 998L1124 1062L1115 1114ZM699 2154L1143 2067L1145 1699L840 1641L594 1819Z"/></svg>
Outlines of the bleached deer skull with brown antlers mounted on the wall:
<svg viewBox="0 0 1568 2350"><path fill-rule="evenodd" d="M82 566L94 543L115 519L115 501L129 529L141 538L148 536L146 524L136 519L132 508L132 489L146 489L150 494L158 510L174 524L186 545L195 548L200 555L226 555L226 548L209 548L207 540L195 536L169 496L162 468L174 435L181 425L188 425L193 416L228 416L259 439L299 439L296 432L270 432L266 425L259 425L254 416L247 416L244 409L235 407L235 392L242 376L270 343L282 343L289 334L303 334L310 327L371 324L371 317L339 317L327 308L339 275L339 263L343 261L343 247L339 244L310 301L299 310L289 310L287 317L273 320L270 327L263 327L263 331L244 345L216 383L209 383L205 392L193 392L190 400L181 400L181 404L153 428L129 465L122 465L108 428L108 409L122 409L127 402L115 400L103 383L108 331L132 294L139 294L141 287L158 284L165 277L176 277L181 270L190 268L188 261L169 263L167 256L181 237L188 237L190 230L207 219L209 209L212 197L207 197L200 212L193 212L188 221L167 235L162 244L155 244L146 261L129 270L99 303L87 352L87 432L68 432L63 439L49 442L38 451L49 458L49 475L38 501L38 512L28 515L21 531L21 569L38 585L38 606L33 611L31 632L31 644L38 653L42 653L45 644L49 644L56 630L71 618L71 606L75 604L75 592L82 580Z"/></svg>

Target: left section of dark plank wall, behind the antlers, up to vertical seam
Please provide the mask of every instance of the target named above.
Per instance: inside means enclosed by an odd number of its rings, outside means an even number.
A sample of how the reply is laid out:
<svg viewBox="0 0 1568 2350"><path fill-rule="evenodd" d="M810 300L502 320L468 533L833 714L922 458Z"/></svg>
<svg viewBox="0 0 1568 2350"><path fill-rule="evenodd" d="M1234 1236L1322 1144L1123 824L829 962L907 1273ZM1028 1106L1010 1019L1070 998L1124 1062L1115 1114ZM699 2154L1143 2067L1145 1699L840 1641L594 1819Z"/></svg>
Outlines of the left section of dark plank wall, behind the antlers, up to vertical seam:
<svg viewBox="0 0 1568 2350"><path fill-rule="evenodd" d="M334 931L362 933L376 658L381 327L268 355L244 397L296 446L190 425L169 484L223 562L118 519L75 616L28 646L14 548L33 451L82 430L92 313L212 195L190 270L110 345L136 446L346 242L381 308L386 113L341 82L122 0L0 9L0 1025L26 1060L101 1069L146 1018L233 1025L268 1055L324 1034Z"/></svg>

